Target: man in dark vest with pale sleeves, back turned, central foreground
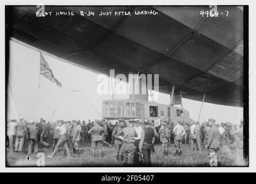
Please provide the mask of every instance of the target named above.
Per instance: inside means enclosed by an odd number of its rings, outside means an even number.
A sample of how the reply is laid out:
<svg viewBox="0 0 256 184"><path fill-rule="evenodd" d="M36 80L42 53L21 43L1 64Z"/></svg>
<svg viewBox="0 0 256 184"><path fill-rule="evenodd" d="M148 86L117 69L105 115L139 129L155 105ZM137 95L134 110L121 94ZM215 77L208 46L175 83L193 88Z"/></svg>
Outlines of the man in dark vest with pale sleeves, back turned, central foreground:
<svg viewBox="0 0 256 184"><path fill-rule="evenodd" d="M152 151L152 139L157 137L156 132L148 125L148 120L144 120L144 128L142 129L142 136L140 137L139 149L143 154L143 164L151 165L151 151Z"/></svg>

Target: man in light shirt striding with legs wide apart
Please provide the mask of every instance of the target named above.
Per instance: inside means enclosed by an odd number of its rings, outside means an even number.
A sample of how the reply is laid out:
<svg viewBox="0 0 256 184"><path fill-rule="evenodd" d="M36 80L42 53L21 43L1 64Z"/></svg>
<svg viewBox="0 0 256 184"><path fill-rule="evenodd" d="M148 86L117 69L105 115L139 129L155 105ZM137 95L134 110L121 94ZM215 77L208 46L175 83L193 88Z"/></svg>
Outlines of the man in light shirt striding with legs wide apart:
<svg viewBox="0 0 256 184"><path fill-rule="evenodd" d="M48 155L49 158L54 158L54 155L56 154L56 152L59 150L59 148L63 145L65 151L67 152L67 158L71 158L70 155L70 150L68 148L67 145L67 129L66 129L66 125L64 124L63 120L60 120L60 124L58 125L58 127L56 127L56 129L58 129L60 131L60 139L58 140L58 143L56 144L55 148L54 148L54 152L52 152L51 155Z"/></svg>

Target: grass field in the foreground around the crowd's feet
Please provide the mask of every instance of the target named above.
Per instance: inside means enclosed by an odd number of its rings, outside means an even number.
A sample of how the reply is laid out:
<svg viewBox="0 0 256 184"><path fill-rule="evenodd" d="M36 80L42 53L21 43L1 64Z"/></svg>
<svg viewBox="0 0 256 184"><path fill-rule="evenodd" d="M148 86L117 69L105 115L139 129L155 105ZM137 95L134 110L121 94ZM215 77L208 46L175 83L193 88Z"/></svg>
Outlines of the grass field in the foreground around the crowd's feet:
<svg viewBox="0 0 256 184"><path fill-rule="evenodd" d="M71 152L72 158L67 159L64 156L63 150L55 155L54 158L48 158L51 154L51 149L42 151L45 158L45 166L124 166L123 162L116 161L114 147L103 147L101 156L93 157L91 154L90 143L81 145L80 155L74 155ZM188 145L183 145L183 154L175 156L174 144L169 145L169 155L163 155L161 145L155 145L155 153L151 155L152 166L209 166L209 158L207 152L192 151ZM219 152L219 166L237 166L231 159L230 150L228 147L221 147ZM6 150L6 165L7 166L37 166L36 154L30 155L30 160L26 154L9 152Z"/></svg>

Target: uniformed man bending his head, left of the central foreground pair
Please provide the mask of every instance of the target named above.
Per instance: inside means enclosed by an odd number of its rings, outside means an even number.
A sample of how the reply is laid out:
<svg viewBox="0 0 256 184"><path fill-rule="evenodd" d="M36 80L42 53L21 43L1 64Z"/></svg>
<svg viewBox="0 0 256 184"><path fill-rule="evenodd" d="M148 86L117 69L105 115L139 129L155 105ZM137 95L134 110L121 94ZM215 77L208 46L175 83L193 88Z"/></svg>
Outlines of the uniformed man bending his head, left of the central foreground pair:
<svg viewBox="0 0 256 184"><path fill-rule="evenodd" d="M114 148L116 149L116 160L123 159L123 154L120 151L121 147L123 146L123 140L119 139L119 136L117 136L117 133L121 132L124 127L126 127L126 122L123 120L120 120L119 125L115 127L112 132L112 137L114 138Z"/></svg>

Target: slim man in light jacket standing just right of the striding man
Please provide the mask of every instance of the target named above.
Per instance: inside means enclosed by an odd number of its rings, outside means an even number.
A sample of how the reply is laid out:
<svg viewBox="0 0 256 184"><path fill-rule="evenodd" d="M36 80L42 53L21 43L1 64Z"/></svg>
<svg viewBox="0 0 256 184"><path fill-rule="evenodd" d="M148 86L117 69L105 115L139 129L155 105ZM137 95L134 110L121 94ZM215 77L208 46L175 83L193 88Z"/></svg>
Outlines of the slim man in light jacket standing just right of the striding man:
<svg viewBox="0 0 256 184"><path fill-rule="evenodd" d="M81 125L78 121L73 120L74 126L71 130L72 144L73 144L73 153L79 155L79 141L81 140Z"/></svg>

